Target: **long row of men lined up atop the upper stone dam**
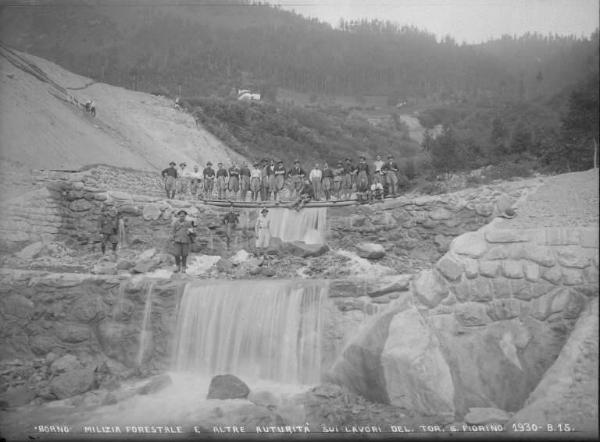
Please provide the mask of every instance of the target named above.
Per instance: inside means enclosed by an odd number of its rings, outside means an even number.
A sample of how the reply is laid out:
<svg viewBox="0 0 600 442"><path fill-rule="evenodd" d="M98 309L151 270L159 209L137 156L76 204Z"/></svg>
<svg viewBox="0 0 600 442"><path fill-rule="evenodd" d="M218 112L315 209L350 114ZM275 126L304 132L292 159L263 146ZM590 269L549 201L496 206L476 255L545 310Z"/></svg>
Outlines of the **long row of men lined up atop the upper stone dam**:
<svg viewBox="0 0 600 442"><path fill-rule="evenodd" d="M186 170L187 164L169 163L162 171L167 198L212 199L213 193L219 200L246 201L278 201L284 189L288 189L290 199L300 196L302 189L309 184L312 187L313 199L350 199L352 193L364 192L395 196L398 193L398 165L390 155L387 162L377 155L372 166L361 156L355 165L350 158L338 161L330 167L327 162L323 167L315 163L308 174L295 160L293 167L286 169L283 161L263 159L249 166L245 161L238 166L235 162L226 169L223 163L217 163L217 169L208 161L201 171L198 165Z"/></svg>

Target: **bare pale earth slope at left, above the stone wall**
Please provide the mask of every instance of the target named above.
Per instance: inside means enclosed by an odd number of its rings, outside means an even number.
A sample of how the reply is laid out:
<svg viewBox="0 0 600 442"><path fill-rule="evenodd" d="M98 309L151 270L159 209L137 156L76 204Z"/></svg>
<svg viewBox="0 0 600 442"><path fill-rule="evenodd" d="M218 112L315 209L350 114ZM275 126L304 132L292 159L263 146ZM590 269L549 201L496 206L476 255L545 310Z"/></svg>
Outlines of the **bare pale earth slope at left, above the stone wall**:
<svg viewBox="0 0 600 442"><path fill-rule="evenodd" d="M77 102L93 99L97 116ZM105 163L162 170L242 157L164 97L95 83L44 59L0 47L0 174Z"/></svg>

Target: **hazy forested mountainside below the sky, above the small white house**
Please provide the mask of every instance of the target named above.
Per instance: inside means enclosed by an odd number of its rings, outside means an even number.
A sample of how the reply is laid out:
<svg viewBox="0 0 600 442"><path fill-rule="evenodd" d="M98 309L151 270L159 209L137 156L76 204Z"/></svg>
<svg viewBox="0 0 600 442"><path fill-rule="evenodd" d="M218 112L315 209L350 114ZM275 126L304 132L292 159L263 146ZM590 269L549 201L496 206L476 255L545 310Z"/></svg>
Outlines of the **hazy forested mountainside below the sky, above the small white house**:
<svg viewBox="0 0 600 442"><path fill-rule="evenodd" d="M100 81L227 96L255 87L398 100L535 98L597 65L593 43L526 35L485 44L381 21L328 24L243 0L42 1L4 6L2 40Z"/></svg>

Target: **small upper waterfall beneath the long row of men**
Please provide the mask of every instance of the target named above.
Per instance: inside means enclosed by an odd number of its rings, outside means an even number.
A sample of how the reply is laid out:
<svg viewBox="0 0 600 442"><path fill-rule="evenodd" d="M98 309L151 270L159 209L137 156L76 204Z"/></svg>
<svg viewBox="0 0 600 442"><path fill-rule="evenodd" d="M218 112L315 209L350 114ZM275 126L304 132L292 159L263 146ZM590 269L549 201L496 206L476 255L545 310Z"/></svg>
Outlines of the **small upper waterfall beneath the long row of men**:
<svg viewBox="0 0 600 442"><path fill-rule="evenodd" d="M327 208L304 208L299 212L290 209L269 210L271 236L282 241L304 241L307 244L324 244L327 227Z"/></svg>

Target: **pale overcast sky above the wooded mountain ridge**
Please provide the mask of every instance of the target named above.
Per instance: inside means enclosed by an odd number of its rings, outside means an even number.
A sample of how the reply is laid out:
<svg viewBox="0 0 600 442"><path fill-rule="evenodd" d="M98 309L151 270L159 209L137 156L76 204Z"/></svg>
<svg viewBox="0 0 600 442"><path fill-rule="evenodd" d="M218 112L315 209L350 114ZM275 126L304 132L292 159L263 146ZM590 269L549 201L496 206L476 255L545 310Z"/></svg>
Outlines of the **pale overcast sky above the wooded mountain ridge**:
<svg viewBox="0 0 600 442"><path fill-rule="evenodd" d="M337 26L340 18L378 18L413 25L459 43L526 32L589 36L600 0L274 0Z"/></svg>

